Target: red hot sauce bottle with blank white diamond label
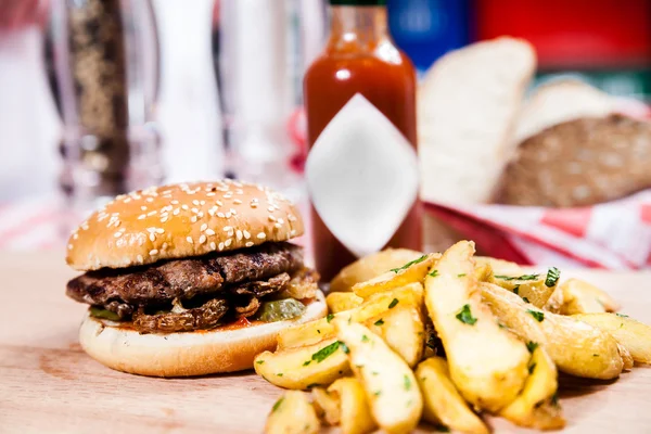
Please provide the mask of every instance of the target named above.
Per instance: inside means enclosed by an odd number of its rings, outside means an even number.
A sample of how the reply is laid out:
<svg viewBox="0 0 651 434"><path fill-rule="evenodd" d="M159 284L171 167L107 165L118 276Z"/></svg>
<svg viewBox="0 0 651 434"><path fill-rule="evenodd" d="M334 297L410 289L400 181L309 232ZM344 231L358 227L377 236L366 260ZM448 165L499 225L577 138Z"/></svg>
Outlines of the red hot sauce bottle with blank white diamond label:
<svg viewBox="0 0 651 434"><path fill-rule="evenodd" d="M305 106L307 112L307 136L310 146L310 155L306 167L308 177L308 188L310 186L310 158L319 148L319 155L327 155L329 149L336 148L336 137L346 138L346 131L337 129L355 128L357 139L365 133L373 133L386 129L387 133L382 135L383 143L388 148L392 143L385 143L384 140L394 140L396 155L405 153L405 145L408 151L416 156L417 131L416 131L416 73L410 60L400 52L392 41L387 29L386 0L330 0L330 38L323 53L317 58L306 72L304 79ZM346 112L344 107L348 107ZM355 106L355 110L353 110ZM361 117L362 122L356 123L353 127L345 126L347 113L359 113L368 111L367 117ZM336 119L336 126L335 124ZM340 128L341 127L341 128ZM392 133L395 131L395 135ZM326 132L324 132L326 131ZM384 131L384 130L383 130ZM329 140L324 138L328 135ZM339 136L337 136L339 135ZM361 135L361 136L360 136ZM376 137L375 137L376 138ZM386 139L385 139L386 138ZM393 138L393 139L391 139ZM353 138L350 138L353 140ZM371 140L371 136L369 136ZM324 143L319 143L320 141ZM372 159L373 152L361 151L354 153L357 141L350 142L352 154L346 155L345 151L337 154L339 161L358 158L362 162ZM403 146L403 148L400 148ZM383 148L384 149L384 148ZM362 156L359 158L359 156ZM400 158L398 158L400 159ZM416 157L413 157L416 161ZM336 171L336 170L334 170ZM333 171L333 181L336 180L336 174ZM417 168L413 165L405 167L405 176L416 177L418 183ZM360 177L365 170L360 169ZM358 186L363 184L353 182L347 184L352 189L349 194L356 194L360 199L368 196L367 191L355 191ZM386 186L385 186L386 188ZM417 186L411 187L409 204L400 215L401 222L398 221L391 228L378 228L379 231L391 231L391 237L383 247L405 247L422 248L422 217L421 204L418 200ZM391 190L388 186L387 190ZM416 191L412 191L416 190ZM403 194L405 190L399 190ZM394 192L395 193L395 192ZM387 191L386 200L395 200L396 194L392 195ZM312 241L316 268L324 281L330 281L344 266L353 263L359 256L361 251L350 247L354 242L344 239L337 233L334 224L329 225L330 209L324 209L317 205L315 193L312 196ZM323 193L321 193L323 195ZM399 196L398 199L403 199ZM328 202L331 207L347 206L337 205L336 202ZM345 212L345 210L342 210ZM352 219L354 220L354 219ZM330 219L330 221L333 221ZM353 222L353 221L350 221ZM343 224L342 224L343 225ZM341 232L341 231L340 231ZM368 254L370 252L363 252Z"/></svg>

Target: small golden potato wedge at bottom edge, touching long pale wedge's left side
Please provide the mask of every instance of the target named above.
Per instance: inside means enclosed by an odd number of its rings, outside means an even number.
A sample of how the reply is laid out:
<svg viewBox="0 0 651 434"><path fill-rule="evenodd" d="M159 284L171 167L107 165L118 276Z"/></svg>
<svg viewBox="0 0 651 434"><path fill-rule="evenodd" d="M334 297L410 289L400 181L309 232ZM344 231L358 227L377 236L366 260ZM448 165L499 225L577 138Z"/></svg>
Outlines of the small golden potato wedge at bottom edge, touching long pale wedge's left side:
<svg viewBox="0 0 651 434"><path fill-rule="evenodd" d="M371 414L366 392L357 379L339 379L328 392L339 396L343 434L366 434L378 426Z"/></svg>

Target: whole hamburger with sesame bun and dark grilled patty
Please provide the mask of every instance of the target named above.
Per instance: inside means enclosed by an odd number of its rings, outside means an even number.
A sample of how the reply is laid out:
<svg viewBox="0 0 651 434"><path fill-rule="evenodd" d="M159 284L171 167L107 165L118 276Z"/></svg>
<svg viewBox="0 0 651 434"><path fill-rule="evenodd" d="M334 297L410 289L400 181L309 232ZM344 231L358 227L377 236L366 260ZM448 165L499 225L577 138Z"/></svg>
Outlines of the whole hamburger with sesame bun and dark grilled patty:
<svg viewBox="0 0 651 434"><path fill-rule="evenodd" d="M296 207L261 186L222 180L117 196L75 229L67 295L90 305L81 347L155 376L250 369L277 333L327 314L305 267Z"/></svg>

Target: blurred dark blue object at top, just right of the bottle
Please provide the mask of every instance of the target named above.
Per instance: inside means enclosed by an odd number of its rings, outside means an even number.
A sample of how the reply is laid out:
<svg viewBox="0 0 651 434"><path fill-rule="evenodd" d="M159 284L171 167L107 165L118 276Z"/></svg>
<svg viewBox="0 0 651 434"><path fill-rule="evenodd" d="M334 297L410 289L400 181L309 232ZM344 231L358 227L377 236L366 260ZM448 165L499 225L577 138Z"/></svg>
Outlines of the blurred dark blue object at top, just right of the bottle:
<svg viewBox="0 0 651 434"><path fill-rule="evenodd" d="M391 34L419 75L446 52L470 42L470 1L388 0Z"/></svg>

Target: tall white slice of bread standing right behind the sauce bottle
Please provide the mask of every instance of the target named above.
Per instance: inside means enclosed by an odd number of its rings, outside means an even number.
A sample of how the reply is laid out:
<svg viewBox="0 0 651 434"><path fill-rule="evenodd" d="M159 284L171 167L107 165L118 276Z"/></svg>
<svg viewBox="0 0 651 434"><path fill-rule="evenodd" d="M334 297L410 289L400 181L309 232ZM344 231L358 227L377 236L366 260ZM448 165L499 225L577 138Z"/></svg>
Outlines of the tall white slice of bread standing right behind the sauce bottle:
<svg viewBox="0 0 651 434"><path fill-rule="evenodd" d="M535 68L532 46L503 37L452 51L425 74L418 95L424 200L490 200Z"/></svg>

